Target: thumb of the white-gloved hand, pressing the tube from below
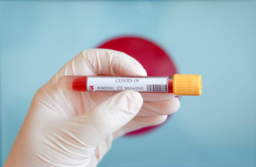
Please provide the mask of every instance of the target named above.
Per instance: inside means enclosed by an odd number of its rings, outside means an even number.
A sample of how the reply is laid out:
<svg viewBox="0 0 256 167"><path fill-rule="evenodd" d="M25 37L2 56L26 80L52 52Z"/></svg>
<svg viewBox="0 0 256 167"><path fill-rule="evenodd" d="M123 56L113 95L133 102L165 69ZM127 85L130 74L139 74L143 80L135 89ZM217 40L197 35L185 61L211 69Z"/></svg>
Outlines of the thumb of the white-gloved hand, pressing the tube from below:
<svg viewBox="0 0 256 167"><path fill-rule="evenodd" d="M127 124L141 109L143 99L136 91L123 91L99 105L89 112L72 120L69 130L72 136L87 146L96 147L110 134Z"/></svg>

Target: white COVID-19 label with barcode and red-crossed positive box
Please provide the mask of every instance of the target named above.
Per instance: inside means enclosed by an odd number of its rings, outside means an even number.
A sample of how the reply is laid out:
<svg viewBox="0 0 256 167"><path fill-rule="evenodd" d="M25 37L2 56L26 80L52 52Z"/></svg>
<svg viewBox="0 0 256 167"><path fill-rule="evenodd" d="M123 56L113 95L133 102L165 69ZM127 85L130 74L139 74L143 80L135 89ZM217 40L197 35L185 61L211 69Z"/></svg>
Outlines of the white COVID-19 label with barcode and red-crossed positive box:
<svg viewBox="0 0 256 167"><path fill-rule="evenodd" d="M168 77L87 76L87 91L168 92Z"/></svg>

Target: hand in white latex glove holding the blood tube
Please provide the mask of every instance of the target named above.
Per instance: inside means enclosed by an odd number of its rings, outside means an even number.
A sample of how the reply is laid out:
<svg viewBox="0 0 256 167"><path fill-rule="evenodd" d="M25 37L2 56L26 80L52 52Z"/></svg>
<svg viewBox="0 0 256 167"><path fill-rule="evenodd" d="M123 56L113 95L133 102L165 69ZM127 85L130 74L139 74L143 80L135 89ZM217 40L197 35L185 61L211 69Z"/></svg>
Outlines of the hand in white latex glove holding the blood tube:
<svg viewBox="0 0 256 167"><path fill-rule="evenodd" d="M147 75L138 61L122 52L79 53L36 92L5 167L97 166L113 139L161 124L179 108L174 94L64 92L57 86L61 76L98 74Z"/></svg>

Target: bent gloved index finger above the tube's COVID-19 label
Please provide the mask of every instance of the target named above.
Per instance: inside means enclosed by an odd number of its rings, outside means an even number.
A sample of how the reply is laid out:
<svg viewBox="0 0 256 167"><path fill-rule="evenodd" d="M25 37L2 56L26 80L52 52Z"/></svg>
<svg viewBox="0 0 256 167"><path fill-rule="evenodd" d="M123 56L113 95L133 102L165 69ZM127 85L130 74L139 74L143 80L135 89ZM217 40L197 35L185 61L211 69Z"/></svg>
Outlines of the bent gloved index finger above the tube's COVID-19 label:
<svg viewBox="0 0 256 167"><path fill-rule="evenodd" d="M79 53L59 71L65 75L146 76L146 70L131 56L110 49L87 49Z"/></svg>

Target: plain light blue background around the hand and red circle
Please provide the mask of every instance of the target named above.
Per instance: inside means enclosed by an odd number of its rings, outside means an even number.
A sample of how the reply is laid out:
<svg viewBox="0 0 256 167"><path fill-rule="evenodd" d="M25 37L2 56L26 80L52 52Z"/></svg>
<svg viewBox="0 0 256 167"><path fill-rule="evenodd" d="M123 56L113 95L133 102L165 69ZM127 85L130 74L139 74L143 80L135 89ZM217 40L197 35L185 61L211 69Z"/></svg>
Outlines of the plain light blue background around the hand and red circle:
<svg viewBox="0 0 256 167"><path fill-rule="evenodd" d="M1 166L36 90L80 51L129 34L202 74L202 96L183 96L156 131L115 140L99 166L256 165L256 1L1 1Z"/></svg>

